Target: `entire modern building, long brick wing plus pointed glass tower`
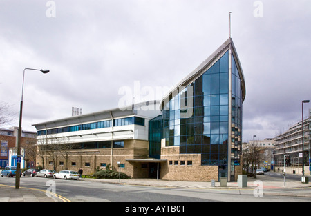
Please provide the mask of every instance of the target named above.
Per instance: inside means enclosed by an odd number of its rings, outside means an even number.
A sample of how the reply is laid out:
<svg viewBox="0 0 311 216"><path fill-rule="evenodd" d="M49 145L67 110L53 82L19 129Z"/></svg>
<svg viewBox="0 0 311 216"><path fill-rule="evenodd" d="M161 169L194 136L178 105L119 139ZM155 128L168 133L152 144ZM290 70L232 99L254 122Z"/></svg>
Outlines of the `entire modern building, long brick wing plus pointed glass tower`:
<svg viewBox="0 0 311 216"><path fill-rule="evenodd" d="M37 161L88 175L121 164L133 178L236 181L244 99L243 70L229 38L162 101L34 124Z"/></svg>

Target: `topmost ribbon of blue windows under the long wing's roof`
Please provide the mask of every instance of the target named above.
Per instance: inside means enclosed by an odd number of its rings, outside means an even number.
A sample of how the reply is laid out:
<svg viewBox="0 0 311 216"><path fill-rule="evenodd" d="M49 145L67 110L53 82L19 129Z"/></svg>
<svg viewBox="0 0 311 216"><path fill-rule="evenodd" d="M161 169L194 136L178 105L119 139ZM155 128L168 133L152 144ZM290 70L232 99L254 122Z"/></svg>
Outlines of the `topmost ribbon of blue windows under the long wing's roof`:
<svg viewBox="0 0 311 216"><path fill-rule="evenodd" d="M48 135L53 135L57 133L62 132L74 132L74 131L80 131L80 130L93 130L98 128L111 128L112 126L126 126L131 124L137 124L144 126L144 119L140 117L127 117L122 119L114 119L108 120L108 121L98 121L88 124L79 124L76 126L68 126L64 128L53 128L47 130ZM37 132L38 136L46 135L46 130L39 130Z"/></svg>

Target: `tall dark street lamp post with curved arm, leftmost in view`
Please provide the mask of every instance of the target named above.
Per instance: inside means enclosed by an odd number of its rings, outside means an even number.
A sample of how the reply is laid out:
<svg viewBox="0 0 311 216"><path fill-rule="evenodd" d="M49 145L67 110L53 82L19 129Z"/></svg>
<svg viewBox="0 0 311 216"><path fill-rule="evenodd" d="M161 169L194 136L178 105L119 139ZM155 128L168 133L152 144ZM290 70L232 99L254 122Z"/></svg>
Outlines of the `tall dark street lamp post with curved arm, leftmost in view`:
<svg viewBox="0 0 311 216"><path fill-rule="evenodd" d="M33 68L25 68L23 69L23 81L25 79L25 70L38 70L43 72L44 74L50 72L50 70L39 70ZM19 111L19 133L17 137L17 166L16 166L16 175L15 175L15 189L19 189L19 183L21 179L21 119L23 116L23 85L21 87L21 106Z"/></svg>

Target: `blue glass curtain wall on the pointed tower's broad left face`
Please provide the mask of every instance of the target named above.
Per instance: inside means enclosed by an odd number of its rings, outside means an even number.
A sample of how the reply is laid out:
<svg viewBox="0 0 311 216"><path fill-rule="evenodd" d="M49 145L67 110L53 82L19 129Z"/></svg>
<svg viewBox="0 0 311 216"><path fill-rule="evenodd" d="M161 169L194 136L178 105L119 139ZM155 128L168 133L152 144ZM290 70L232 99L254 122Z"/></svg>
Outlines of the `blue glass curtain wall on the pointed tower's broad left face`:
<svg viewBox="0 0 311 216"><path fill-rule="evenodd" d="M182 109L185 106L187 110ZM180 154L201 153L202 165L219 166L220 176L226 176L228 109L229 54L225 52L203 75L164 104L162 138L166 146L180 146ZM234 121L238 117L234 116Z"/></svg>

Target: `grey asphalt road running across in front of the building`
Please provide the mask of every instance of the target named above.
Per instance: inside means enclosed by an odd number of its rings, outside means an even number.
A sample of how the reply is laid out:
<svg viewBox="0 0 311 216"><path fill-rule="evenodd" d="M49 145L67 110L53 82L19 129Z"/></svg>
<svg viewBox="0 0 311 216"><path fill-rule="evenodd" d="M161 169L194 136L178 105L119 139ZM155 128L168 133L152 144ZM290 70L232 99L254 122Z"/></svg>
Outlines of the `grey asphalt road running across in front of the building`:
<svg viewBox="0 0 311 216"><path fill-rule="evenodd" d="M15 178L0 177L0 184L14 186ZM53 190L71 202L311 202L310 197L255 197L250 188L164 188L43 177L21 177L21 187Z"/></svg>

